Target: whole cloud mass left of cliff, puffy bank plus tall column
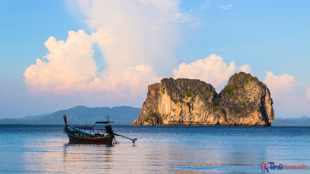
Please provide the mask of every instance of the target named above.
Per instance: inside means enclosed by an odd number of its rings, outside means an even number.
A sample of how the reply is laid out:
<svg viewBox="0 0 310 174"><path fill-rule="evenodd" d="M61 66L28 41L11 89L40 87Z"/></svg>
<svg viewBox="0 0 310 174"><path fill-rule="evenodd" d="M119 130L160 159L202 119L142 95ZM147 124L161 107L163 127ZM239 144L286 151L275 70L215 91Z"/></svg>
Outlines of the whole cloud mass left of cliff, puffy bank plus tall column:
<svg viewBox="0 0 310 174"><path fill-rule="evenodd" d="M70 31L67 41L50 37L45 42L50 52L45 56L47 61L37 59L24 72L30 91L146 96L147 86L160 80L156 69L162 74L171 72L168 67L177 62L174 41L180 37L177 28L165 19L182 16L179 1L93 0L69 2L68 7L75 8L74 3L85 15L84 22L96 32ZM94 43L98 43L96 51L102 52L107 65L101 72L92 58Z"/></svg>

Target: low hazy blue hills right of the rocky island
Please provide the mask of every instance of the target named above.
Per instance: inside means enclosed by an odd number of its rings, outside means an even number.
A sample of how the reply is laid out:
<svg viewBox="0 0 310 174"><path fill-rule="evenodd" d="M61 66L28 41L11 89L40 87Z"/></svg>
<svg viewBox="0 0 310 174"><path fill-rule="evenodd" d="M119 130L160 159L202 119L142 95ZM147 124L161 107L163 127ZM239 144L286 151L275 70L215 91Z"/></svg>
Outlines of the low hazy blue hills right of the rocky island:
<svg viewBox="0 0 310 174"><path fill-rule="evenodd" d="M302 116L299 118L276 118L271 126L310 126L310 117Z"/></svg>

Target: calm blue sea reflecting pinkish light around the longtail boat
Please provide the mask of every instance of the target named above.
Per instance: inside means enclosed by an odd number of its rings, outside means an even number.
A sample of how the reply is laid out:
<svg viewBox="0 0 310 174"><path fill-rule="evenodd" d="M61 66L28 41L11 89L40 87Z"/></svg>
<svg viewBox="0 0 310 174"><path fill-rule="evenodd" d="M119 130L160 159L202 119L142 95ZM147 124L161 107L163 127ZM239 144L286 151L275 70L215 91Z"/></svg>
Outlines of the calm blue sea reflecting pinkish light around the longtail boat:
<svg viewBox="0 0 310 174"><path fill-rule="evenodd" d="M0 173L310 173L310 127L113 126L138 140L112 146L69 143L63 127L0 125Z"/></svg>

